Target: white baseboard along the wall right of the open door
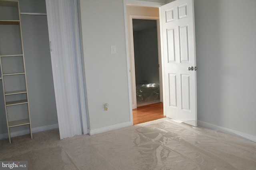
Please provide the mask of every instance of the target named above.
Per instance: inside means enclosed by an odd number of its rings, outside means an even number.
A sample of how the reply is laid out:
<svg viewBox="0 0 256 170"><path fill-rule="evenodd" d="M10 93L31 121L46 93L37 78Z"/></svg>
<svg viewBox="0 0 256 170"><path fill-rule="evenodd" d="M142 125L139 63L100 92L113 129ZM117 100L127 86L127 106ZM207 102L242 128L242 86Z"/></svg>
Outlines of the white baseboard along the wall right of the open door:
<svg viewBox="0 0 256 170"><path fill-rule="evenodd" d="M210 124L210 123L206 123L204 121L197 121L198 122L198 125L202 126L202 127L206 127L208 129L212 129L214 131L220 131L220 132L223 132L223 133L227 133L229 135L238 135L240 137L244 137L246 139L249 139L251 141L254 141L256 142L256 136L253 136L253 135L250 135L250 134L247 134L247 133L243 133L243 132L240 132L240 131L235 131L235 130L232 130L232 129L228 129L226 127L221 127L221 126L217 126L217 125L213 125L213 124Z"/></svg>

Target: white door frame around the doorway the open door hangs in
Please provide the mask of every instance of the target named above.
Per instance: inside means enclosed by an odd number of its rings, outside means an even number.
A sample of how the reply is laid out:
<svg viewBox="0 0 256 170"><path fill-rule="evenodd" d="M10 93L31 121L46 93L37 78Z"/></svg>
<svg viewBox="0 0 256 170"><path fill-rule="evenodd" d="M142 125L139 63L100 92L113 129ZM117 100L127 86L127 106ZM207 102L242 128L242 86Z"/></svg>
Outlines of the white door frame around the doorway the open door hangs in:
<svg viewBox="0 0 256 170"><path fill-rule="evenodd" d="M126 6L142 6L142 7L154 7L154 8L159 8L162 5L164 5L164 3L160 3L160 2L148 2L148 1L141 1L141 0L123 0L123 5L124 5L124 30L125 30L125 39L126 39L126 63L127 63L127 78L128 78L128 92L129 92L129 105L130 105L130 121L133 122L133 117L132 117L132 88L131 88L131 76L130 76L130 52L129 52L129 41L128 41L128 21L127 21L127 10L126 10ZM159 9L160 10L160 9ZM159 16L161 18L161 16ZM160 37L162 36L162 27L161 27L161 20L159 20L160 23ZM162 54L162 41L161 42L161 54ZM161 57L162 58L162 57ZM162 60L163 62L163 60ZM164 82L164 68L163 68L163 63L162 64L162 82ZM164 95L164 84L162 84L162 98L163 98L163 103L165 103L165 95ZM165 111L165 107L164 107L164 115L166 113Z"/></svg>

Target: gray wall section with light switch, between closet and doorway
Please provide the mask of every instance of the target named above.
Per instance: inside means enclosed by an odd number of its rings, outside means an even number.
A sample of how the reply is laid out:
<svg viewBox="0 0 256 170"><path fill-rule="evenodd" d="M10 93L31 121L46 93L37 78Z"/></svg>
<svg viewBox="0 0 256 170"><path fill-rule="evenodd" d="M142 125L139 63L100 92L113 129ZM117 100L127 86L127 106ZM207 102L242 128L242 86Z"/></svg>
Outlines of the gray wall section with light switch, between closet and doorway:
<svg viewBox="0 0 256 170"><path fill-rule="evenodd" d="M80 0L80 8L89 129L130 122L123 2Z"/></svg>

